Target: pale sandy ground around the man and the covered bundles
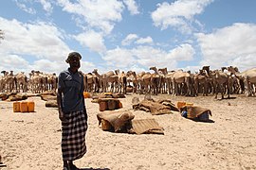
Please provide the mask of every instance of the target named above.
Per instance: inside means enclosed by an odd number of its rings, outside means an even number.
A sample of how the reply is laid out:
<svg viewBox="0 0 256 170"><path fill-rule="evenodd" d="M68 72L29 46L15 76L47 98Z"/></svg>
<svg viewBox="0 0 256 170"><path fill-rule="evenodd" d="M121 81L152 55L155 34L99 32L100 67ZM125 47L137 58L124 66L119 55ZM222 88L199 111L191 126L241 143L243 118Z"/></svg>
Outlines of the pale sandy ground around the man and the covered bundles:
<svg viewBox="0 0 256 170"><path fill-rule="evenodd" d="M121 98L121 110L132 110L132 98ZM194 122L178 112L151 115L133 111L135 119L154 117L164 135L127 134L102 131L98 127L99 105L86 100L89 115L86 135L87 153L75 164L82 169L256 169L256 97L231 95L215 100L213 96L153 96L192 102L209 108L212 123ZM46 108L40 97L35 112L12 111L12 102L0 101L0 154L6 169L62 169L61 123L58 111ZM1 168L0 168L1 169Z"/></svg>

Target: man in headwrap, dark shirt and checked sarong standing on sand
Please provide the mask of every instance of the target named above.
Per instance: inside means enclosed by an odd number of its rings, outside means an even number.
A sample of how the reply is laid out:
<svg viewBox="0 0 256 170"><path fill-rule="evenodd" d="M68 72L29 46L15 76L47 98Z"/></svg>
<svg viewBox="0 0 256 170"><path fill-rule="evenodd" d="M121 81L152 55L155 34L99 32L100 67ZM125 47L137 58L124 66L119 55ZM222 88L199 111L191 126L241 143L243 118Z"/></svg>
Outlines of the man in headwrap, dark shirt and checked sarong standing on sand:
<svg viewBox="0 0 256 170"><path fill-rule="evenodd" d="M83 76L80 68L81 55L69 53L65 60L69 68L60 73L58 79L58 108L62 121L62 152L64 170L77 169L73 161L86 153L85 134L87 113L83 98Z"/></svg>

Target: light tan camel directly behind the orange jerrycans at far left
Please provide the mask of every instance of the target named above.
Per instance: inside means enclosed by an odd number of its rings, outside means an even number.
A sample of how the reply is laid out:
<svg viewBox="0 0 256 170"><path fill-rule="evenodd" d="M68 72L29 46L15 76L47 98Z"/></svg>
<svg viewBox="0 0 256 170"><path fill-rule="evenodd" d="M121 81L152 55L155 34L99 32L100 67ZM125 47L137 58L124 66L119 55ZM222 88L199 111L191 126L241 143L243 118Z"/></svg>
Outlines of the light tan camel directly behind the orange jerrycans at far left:
<svg viewBox="0 0 256 170"><path fill-rule="evenodd" d="M20 72L14 76L16 82L16 91L27 93L27 76L24 72Z"/></svg>

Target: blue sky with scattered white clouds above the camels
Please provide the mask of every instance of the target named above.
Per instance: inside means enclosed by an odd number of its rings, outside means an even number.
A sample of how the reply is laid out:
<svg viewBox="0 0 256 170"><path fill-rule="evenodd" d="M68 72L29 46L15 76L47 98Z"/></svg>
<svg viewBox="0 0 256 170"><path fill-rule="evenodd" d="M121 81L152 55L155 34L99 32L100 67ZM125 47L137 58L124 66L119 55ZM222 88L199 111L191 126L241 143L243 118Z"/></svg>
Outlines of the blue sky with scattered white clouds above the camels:
<svg viewBox="0 0 256 170"><path fill-rule="evenodd" d="M256 66L255 0L1 0L0 71Z"/></svg>

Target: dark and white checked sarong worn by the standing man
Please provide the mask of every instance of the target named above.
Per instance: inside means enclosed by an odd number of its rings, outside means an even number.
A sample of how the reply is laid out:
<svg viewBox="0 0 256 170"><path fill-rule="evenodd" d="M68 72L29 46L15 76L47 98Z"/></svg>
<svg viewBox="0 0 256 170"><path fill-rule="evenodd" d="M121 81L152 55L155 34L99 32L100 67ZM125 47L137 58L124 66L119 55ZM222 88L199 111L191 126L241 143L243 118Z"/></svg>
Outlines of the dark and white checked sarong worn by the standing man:
<svg viewBox="0 0 256 170"><path fill-rule="evenodd" d="M86 153L85 134L87 122L83 110L65 114L66 122L62 122L63 161L74 161Z"/></svg>

